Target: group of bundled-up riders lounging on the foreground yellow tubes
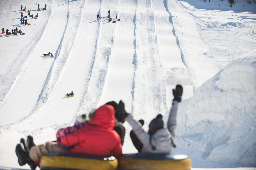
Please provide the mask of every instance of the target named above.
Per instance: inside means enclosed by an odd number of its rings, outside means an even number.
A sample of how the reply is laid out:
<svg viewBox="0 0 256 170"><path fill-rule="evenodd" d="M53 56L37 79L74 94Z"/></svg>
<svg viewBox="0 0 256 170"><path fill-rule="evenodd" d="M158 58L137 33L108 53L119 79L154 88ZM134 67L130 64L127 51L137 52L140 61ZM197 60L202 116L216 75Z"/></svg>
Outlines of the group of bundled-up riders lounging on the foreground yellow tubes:
<svg viewBox="0 0 256 170"><path fill-rule="evenodd" d="M164 128L163 117L159 114L150 122L149 130L146 132L142 128L144 121L135 121L132 115L126 112L123 101L120 100L119 104L111 101L98 109L91 110L87 115L79 115L74 126L59 129L56 133L56 141L35 145L32 136L27 137L26 143L22 138L16 146L18 163L21 166L28 163L31 169L35 169L39 166L41 156L48 152L121 156L125 121L133 128L130 137L139 153L170 153L172 147L175 147L173 138L178 103L181 102L183 93L182 86L177 85L172 93L174 99L167 129Z"/></svg>

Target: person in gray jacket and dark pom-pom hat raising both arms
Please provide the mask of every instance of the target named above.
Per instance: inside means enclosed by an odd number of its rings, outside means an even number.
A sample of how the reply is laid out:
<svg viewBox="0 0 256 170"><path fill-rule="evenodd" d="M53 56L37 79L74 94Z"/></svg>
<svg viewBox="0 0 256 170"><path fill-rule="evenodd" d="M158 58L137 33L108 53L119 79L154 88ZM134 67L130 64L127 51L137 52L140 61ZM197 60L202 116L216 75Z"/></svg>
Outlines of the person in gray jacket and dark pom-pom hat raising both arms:
<svg viewBox="0 0 256 170"><path fill-rule="evenodd" d="M141 153L170 153L172 146L176 147L173 143L174 131L176 128L176 114L178 109L178 103L181 102L183 88L181 85L177 85L176 89L173 89L173 102L169 113L167 122L168 129L164 128L164 122L162 115L159 114L149 124L149 131L145 132L142 129L142 124L135 121L130 114L124 109L124 103L119 102L120 112L123 118L132 126L135 135L131 135L134 138L132 142L138 152Z"/></svg>

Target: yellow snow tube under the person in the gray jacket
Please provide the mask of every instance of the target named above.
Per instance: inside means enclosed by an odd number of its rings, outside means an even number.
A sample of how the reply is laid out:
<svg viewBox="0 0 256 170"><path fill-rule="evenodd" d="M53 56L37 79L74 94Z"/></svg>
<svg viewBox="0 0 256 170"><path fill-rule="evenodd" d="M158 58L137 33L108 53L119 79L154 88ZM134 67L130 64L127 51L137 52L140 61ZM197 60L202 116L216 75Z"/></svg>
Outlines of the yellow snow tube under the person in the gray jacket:
<svg viewBox="0 0 256 170"><path fill-rule="evenodd" d="M184 154L124 154L118 158L119 170L189 170L191 159Z"/></svg>

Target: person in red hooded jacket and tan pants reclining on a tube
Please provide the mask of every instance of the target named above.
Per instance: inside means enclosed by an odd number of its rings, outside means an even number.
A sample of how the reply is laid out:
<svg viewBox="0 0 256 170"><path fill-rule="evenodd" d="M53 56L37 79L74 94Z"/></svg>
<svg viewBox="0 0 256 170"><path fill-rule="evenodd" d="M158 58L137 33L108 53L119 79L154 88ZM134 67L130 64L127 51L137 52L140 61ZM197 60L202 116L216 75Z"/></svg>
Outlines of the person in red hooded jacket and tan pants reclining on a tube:
<svg viewBox="0 0 256 170"><path fill-rule="evenodd" d="M32 136L28 136L27 144L25 139L21 139L15 150L19 165L23 166L27 163L34 170L40 166L41 157L49 152L121 156L121 139L113 130L114 116L114 107L105 104L92 110L86 123L59 129L56 133L57 141L35 145Z"/></svg>

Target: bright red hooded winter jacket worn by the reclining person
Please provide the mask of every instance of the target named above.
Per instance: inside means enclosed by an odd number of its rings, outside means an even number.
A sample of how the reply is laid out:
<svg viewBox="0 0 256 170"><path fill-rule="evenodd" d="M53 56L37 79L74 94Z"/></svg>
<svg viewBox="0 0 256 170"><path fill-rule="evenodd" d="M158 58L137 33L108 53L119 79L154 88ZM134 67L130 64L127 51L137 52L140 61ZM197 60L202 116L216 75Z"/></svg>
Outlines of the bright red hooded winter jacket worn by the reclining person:
<svg viewBox="0 0 256 170"><path fill-rule="evenodd" d="M73 146L69 153L95 156L122 155L120 136L115 130L115 111L111 105L99 107L92 122L60 138L61 143Z"/></svg>

